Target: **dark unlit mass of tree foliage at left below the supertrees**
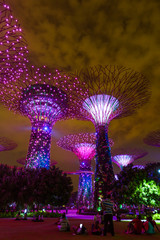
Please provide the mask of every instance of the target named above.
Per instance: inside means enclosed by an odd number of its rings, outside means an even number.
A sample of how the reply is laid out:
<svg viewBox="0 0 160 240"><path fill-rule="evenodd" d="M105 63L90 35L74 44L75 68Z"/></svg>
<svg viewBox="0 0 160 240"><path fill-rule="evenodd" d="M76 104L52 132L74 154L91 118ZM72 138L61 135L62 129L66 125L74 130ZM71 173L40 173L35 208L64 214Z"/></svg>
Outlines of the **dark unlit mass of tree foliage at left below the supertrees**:
<svg viewBox="0 0 160 240"><path fill-rule="evenodd" d="M15 202L18 207L24 204L62 206L67 204L73 186L70 177L61 170L17 169L0 165L0 208Z"/></svg>

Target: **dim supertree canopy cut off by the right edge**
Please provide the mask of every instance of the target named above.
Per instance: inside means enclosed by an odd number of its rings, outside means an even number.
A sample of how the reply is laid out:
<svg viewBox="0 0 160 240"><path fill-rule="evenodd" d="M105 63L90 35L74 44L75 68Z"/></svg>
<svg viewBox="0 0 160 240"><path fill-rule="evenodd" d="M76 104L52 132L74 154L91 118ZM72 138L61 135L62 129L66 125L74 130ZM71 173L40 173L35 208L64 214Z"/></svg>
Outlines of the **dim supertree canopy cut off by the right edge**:
<svg viewBox="0 0 160 240"><path fill-rule="evenodd" d="M149 133L144 138L144 143L151 146L160 147L160 130Z"/></svg>

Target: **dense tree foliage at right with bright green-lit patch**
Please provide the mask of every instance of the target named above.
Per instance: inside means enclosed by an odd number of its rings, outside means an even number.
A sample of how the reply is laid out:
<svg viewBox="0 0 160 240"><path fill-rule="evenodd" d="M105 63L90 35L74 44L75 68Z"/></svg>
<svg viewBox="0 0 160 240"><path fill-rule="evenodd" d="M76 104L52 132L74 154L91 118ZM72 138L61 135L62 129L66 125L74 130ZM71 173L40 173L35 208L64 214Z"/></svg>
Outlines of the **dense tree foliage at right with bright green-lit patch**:
<svg viewBox="0 0 160 240"><path fill-rule="evenodd" d="M113 197L117 204L158 206L160 202L160 163L144 169L124 167L115 181Z"/></svg>

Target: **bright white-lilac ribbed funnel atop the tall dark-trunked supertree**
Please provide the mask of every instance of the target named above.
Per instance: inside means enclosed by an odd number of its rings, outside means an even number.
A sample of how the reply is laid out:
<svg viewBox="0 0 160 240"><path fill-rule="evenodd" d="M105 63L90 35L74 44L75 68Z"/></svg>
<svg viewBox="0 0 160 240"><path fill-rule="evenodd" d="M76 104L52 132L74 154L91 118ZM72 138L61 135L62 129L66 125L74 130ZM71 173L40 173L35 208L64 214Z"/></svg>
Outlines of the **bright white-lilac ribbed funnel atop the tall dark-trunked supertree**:
<svg viewBox="0 0 160 240"><path fill-rule="evenodd" d="M94 95L83 102L87 110L98 125L106 125L113 118L112 113L118 108L119 101L109 95Z"/></svg>

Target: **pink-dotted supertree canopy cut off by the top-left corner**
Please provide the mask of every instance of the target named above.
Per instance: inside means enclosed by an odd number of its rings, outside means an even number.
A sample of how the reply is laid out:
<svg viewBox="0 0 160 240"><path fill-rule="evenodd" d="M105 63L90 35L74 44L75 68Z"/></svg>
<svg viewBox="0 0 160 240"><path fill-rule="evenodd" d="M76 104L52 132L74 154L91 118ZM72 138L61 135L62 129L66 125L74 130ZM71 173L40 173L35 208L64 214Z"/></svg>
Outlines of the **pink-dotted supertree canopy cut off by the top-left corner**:
<svg viewBox="0 0 160 240"><path fill-rule="evenodd" d="M16 81L28 62L27 43L10 7L0 1L0 82Z"/></svg>

